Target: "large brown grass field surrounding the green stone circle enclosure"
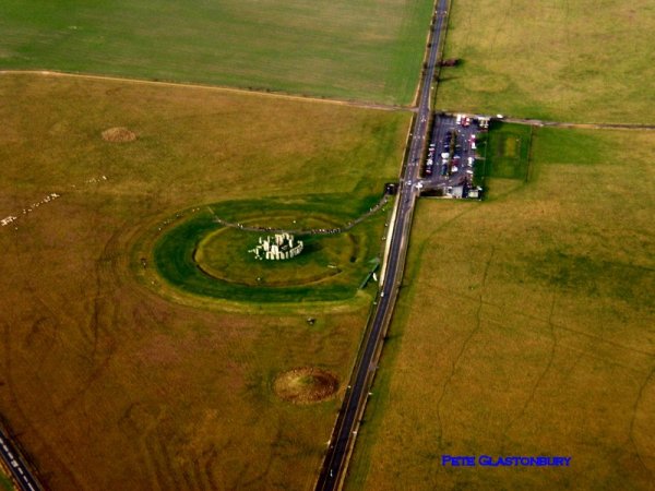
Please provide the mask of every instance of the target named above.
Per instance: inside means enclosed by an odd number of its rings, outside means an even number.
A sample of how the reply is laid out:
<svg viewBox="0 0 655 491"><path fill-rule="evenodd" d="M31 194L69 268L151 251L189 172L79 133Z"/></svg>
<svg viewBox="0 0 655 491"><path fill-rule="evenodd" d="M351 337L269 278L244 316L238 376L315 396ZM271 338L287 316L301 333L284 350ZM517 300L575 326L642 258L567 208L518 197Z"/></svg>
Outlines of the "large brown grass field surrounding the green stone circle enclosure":
<svg viewBox="0 0 655 491"><path fill-rule="evenodd" d="M381 194L409 116L27 75L0 76L0 218L17 217L0 227L0 412L46 487L310 488L343 387L295 405L272 384L299 367L347 378L368 295L183 307L134 280L130 247L203 203ZM116 127L136 140L104 141Z"/></svg>

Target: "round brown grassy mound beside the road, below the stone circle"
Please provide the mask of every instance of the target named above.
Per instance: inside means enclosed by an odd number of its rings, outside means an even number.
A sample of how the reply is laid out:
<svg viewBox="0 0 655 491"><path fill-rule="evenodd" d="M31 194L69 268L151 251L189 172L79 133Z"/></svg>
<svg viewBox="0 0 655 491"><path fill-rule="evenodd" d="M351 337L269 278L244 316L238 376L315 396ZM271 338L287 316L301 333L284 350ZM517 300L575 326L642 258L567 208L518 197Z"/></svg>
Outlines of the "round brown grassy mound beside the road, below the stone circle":
<svg viewBox="0 0 655 491"><path fill-rule="evenodd" d="M333 396L337 388L335 375L312 367L281 373L273 383L273 391L281 399L295 404L320 403Z"/></svg>

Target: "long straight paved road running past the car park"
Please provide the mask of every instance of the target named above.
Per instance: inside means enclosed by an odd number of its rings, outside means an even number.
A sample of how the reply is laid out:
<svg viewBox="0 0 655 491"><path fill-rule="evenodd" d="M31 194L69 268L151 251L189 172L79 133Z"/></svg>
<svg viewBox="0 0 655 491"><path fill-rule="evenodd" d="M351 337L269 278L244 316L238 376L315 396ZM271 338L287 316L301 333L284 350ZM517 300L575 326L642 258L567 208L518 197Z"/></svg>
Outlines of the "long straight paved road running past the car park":
<svg viewBox="0 0 655 491"><path fill-rule="evenodd" d="M401 179L401 191L398 195L397 211L393 224L393 232L390 238L390 250L384 272L384 284L377 300L377 309L369 323L365 339L360 347L358 361L350 378L350 385L346 391L344 404L338 414L327 453L323 460L323 467L317 481L318 491L341 489L345 478L348 460L359 421L364 414L366 402L377 369L377 362L382 349L382 339L391 321L391 314L398 287L403 277L405 255L414 205L419 190L416 188L420 158L424 151L428 121L430 119L431 81L434 75L439 45L446 20L448 1L439 0L436 10L437 21L432 26L432 45L427 60L427 68L420 85L418 109L412 132L407 161Z"/></svg>

